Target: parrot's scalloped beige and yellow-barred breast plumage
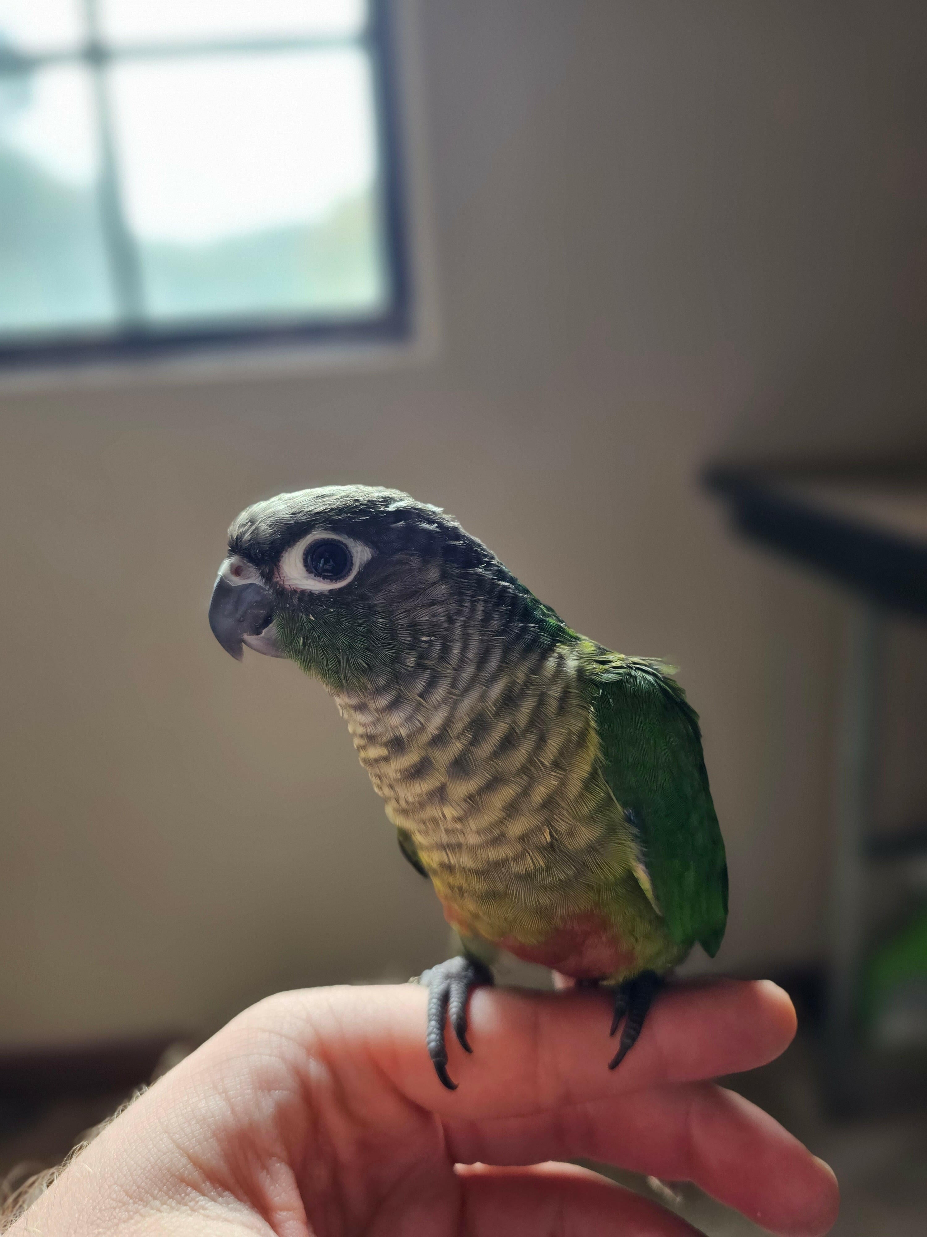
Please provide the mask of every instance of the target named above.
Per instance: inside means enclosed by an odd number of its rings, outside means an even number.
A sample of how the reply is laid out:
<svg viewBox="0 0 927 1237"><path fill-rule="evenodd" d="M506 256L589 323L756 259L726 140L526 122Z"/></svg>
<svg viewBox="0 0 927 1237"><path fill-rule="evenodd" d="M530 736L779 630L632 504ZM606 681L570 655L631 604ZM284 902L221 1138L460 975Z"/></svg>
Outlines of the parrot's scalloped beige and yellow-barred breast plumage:
<svg viewBox="0 0 927 1237"><path fill-rule="evenodd" d="M559 909L598 909L603 884L630 873L576 644L475 599L379 685L332 694L459 927L540 940Z"/></svg>

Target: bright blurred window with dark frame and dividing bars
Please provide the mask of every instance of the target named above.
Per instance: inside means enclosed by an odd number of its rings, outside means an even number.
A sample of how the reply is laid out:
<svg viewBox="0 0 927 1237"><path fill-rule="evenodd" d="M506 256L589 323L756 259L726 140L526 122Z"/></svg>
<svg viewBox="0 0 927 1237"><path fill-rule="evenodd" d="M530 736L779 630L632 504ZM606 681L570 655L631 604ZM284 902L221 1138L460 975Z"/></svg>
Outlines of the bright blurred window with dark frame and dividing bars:
<svg viewBox="0 0 927 1237"><path fill-rule="evenodd" d="M0 0L0 361L407 323L386 0Z"/></svg>

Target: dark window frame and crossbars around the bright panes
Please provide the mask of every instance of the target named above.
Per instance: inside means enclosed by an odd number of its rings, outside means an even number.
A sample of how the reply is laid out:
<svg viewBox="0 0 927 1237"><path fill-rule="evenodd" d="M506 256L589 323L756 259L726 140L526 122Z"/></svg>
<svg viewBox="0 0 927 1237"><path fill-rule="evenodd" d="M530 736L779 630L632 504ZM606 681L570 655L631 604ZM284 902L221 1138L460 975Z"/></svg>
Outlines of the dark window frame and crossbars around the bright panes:
<svg viewBox="0 0 927 1237"><path fill-rule="evenodd" d="M122 280L137 280L137 260L135 242L125 226L125 215L119 200L119 181L115 162L115 150L109 121L109 103L104 83L105 66L121 58L119 51L106 47L94 27L95 0L84 0L90 19L90 35L83 47L69 52L21 53L0 52L0 71L31 72L46 63L84 63L91 72L91 90L98 114L98 126L101 137L101 169L96 190L103 215L103 229L106 241L106 254L110 260L110 275L116 285L117 298L131 302L131 289L119 287ZM256 312L253 319L245 315L227 323L204 323L192 320L187 325L117 323L106 328L80 332L79 329L44 334L36 332L22 339L0 334L0 372L32 369L36 366L68 366L80 362L133 361L146 359L183 357L209 351L213 354L241 353L262 348L293 348L303 345L355 345L404 343L412 336L412 281L409 262L408 198L403 148L399 132L399 90L396 73L396 0L368 0L368 17L363 31L351 42L365 47L371 66L373 83L373 111L377 143L377 187L379 197L379 215L383 230L383 260L387 281L391 289L386 308L376 314L340 318L336 315L272 315ZM325 42L342 45L340 36L328 40L299 37L276 40L213 40L219 49L232 47L261 51L281 51L300 46L320 46ZM206 41L203 42L205 47ZM179 51L183 45L176 45ZM171 54L164 45L158 54ZM184 54L180 52L180 54ZM120 252L121 250L121 252ZM129 261L126 262L126 255ZM115 256L115 262L112 261ZM137 288L137 285L136 285ZM137 291L136 291L137 294ZM265 320L261 320L261 319Z"/></svg>

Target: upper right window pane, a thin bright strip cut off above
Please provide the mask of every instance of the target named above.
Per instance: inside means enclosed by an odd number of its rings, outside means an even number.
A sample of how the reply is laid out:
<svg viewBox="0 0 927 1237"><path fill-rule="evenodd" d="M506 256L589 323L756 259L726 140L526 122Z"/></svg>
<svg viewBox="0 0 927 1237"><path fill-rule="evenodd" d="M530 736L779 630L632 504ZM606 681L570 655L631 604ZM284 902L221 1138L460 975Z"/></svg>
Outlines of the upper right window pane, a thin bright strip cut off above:
<svg viewBox="0 0 927 1237"><path fill-rule="evenodd" d="M27 0L23 0L27 2ZM33 0L38 2L38 0ZM98 0L115 45L193 38L356 35L366 0Z"/></svg>

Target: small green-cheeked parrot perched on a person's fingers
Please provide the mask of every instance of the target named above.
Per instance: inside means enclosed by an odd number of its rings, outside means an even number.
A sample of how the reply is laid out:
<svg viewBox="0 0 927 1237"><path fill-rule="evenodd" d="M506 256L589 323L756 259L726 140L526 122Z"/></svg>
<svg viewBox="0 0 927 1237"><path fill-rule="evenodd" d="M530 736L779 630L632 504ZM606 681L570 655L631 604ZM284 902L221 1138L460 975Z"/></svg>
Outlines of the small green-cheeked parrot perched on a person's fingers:
<svg viewBox="0 0 927 1237"><path fill-rule="evenodd" d="M442 508L326 485L232 522L213 635L321 680L399 850L462 952L420 976L447 1071L504 951L613 991L616 1069L651 999L727 923L698 716L674 668L578 635Z"/></svg>

